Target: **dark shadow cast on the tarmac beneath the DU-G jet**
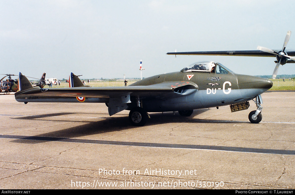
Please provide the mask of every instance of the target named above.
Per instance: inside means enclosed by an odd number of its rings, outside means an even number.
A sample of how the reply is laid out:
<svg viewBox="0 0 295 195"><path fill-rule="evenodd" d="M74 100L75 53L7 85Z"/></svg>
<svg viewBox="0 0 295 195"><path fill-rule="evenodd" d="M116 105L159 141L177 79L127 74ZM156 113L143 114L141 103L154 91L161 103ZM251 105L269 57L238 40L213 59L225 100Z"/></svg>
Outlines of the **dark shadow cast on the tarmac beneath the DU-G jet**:
<svg viewBox="0 0 295 195"><path fill-rule="evenodd" d="M190 117L180 116L177 112L173 114L173 112L168 113L151 113L151 119L148 120L148 123L144 126L144 128L153 125L167 124L167 123L248 123L245 121L225 121L225 120L203 120L194 118L196 115L204 113L209 109L199 109L195 110L194 113ZM32 115L25 117L17 117L13 119L21 119L21 120L43 120L43 121L59 121L59 122L78 122L85 123L82 125L73 126L70 128L65 128L61 130L55 130L48 133L43 133L39 135L35 135L35 137L48 137L48 138L77 138L83 137L87 135L96 135L100 133L108 133L115 131L122 131L127 129L141 128L135 127L130 124L128 120L128 116L126 114L122 114L122 117L98 117L99 121L93 121L93 119L89 120L64 120L64 119L47 119L47 117L56 117L63 115L70 115L76 113L53 113L53 114L42 114L42 115ZM81 114L81 113L79 113ZM87 115L88 113L83 113ZM84 118L85 119L85 118ZM250 123L250 122L249 122ZM74 125L74 124L73 124ZM46 128L46 127L45 127ZM51 127L47 127L51 128ZM56 128L56 127L55 127ZM48 140L50 141L50 140ZM17 143L41 143L46 142L46 140L40 140L39 138L34 139L18 139L12 142Z"/></svg>

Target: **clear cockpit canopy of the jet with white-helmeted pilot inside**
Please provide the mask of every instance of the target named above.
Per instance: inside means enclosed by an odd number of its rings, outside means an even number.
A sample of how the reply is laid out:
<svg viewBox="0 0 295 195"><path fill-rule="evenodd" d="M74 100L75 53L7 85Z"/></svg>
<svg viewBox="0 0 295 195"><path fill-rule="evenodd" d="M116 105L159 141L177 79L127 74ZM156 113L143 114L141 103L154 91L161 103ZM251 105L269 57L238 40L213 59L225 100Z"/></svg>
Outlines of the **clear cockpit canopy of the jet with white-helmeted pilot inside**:
<svg viewBox="0 0 295 195"><path fill-rule="evenodd" d="M231 72L233 74L230 69L220 63L214 62L197 62L183 68L181 72L212 72L216 74L228 74L228 72Z"/></svg>

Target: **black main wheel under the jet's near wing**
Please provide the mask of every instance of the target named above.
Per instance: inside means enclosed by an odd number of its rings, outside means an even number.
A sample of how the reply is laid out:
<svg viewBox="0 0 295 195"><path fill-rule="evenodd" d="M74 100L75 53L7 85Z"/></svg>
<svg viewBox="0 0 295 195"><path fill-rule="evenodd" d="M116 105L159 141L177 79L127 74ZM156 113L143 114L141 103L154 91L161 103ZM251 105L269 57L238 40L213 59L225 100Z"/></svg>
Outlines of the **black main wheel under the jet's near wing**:
<svg viewBox="0 0 295 195"><path fill-rule="evenodd" d="M134 126L143 126L147 122L148 113L141 107L135 107L130 110L129 120Z"/></svg>

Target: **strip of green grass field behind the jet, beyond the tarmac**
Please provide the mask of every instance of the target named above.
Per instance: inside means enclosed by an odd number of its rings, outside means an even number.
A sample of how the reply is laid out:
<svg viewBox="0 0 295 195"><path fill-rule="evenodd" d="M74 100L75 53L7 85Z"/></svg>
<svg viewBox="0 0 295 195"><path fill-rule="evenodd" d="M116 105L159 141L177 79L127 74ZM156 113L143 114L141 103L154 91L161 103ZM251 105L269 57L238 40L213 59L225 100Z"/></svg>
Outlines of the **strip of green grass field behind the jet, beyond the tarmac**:
<svg viewBox="0 0 295 195"><path fill-rule="evenodd" d="M283 79L270 79L273 82L273 87L271 87L270 90L295 90L295 83L294 81L285 80ZM127 85L130 85L132 83L135 83L137 80L128 81ZM92 87L119 87L124 86L124 81L110 81L110 82L90 82L85 83L85 85L90 85ZM53 88L58 87L69 87L68 83L62 82L60 85L53 85ZM48 85L46 85L44 88L49 88Z"/></svg>

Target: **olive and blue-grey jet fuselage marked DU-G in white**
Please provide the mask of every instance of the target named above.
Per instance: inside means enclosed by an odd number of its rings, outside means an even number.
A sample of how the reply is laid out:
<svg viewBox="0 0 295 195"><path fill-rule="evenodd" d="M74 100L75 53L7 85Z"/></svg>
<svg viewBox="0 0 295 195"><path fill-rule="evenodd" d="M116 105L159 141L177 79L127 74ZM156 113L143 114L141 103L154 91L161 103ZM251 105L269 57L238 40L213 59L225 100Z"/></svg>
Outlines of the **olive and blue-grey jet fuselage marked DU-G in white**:
<svg viewBox="0 0 295 195"><path fill-rule="evenodd" d="M238 75L233 72L222 74L180 71L148 77L131 86L153 85L169 81L177 81L173 87L181 85L178 81L194 82L198 86L198 90L189 95L179 94L179 97L175 98L142 99L142 107L147 112L194 110L242 103L255 98L272 85L271 81L264 78Z"/></svg>

